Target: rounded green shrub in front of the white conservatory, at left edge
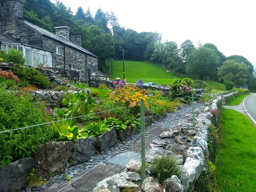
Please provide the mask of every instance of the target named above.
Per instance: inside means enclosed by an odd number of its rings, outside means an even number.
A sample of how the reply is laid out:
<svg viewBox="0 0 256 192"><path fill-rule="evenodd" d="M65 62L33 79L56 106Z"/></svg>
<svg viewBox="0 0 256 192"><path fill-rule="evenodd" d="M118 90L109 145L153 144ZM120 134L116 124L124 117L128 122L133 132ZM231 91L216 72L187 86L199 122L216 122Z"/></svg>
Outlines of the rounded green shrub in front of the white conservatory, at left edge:
<svg viewBox="0 0 256 192"><path fill-rule="evenodd" d="M4 51L1 57L3 58L4 63L13 62L15 64L20 64L20 65L24 65L27 60L27 58L24 58L22 52L14 49L11 49L10 51L8 51L8 53Z"/></svg>

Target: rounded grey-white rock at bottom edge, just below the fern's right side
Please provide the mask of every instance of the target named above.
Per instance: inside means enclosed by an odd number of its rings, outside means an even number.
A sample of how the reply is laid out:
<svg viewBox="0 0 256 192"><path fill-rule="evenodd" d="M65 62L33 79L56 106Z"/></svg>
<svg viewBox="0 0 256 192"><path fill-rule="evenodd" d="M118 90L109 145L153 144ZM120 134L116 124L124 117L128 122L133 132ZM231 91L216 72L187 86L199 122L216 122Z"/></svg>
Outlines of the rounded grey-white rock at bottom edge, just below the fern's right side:
<svg viewBox="0 0 256 192"><path fill-rule="evenodd" d="M183 186L176 175L163 181L164 192L183 192Z"/></svg>

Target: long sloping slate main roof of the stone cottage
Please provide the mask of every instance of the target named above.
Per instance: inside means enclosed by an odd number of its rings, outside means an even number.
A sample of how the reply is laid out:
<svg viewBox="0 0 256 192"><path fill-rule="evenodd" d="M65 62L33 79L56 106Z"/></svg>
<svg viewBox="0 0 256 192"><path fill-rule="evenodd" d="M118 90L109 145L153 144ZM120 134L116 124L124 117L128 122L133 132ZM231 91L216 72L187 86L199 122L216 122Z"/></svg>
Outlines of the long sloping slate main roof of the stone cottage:
<svg viewBox="0 0 256 192"><path fill-rule="evenodd" d="M43 28L41 28L41 27L38 27L38 26L36 26L36 25L34 25L34 24L32 24L32 23L26 21L26 20L21 20L21 21L23 21L23 22L24 22L25 24L27 24L28 26L34 28L36 31L38 31L38 32L41 33L42 35L45 35L45 36L47 36L47 37L49 37L49 38L52 38L52 39L54 39L54 40L56 40L56 41L58 41L58 42L60 42L60 43L63 43L63 44L68 45L68 46L70 46L70 47L73 47L74 49L79 50L79 51L81 51L81 52L84 52L84 53L87 53L87 54L92 55L92 56L94 56L94 57L97 57L96 55L94 55L94 54L92 54L91 52L87 51L87 50L84 49L83 47L81 47L81 46L79 46L79 45L77 45L77 44L75 44L75 43L72 43L71 41L68 41L68 40L65 39L64 37L57 36L57 35L55 35L54 33L50 32L50 31L47 31L46 29L43 29ZM97 58L98 58L98 57L97 57Z"/></svg>

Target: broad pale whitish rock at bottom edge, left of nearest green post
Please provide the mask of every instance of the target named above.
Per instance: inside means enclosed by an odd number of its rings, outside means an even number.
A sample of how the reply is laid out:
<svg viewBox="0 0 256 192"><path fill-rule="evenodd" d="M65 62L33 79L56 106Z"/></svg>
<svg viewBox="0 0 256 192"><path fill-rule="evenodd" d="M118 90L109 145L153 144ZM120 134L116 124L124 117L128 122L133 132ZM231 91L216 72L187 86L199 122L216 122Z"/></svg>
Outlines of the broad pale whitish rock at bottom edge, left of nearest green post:
<svg viewBox="0 0 256 192"><path fill-rule="evenodd" d="M121 192L122 188L135 188L138 185L132 183L129 180L124 179L119 173L110 176L97 184L97 186L92 190L100 191L101 189L110 189L111 192Z"/></svg>

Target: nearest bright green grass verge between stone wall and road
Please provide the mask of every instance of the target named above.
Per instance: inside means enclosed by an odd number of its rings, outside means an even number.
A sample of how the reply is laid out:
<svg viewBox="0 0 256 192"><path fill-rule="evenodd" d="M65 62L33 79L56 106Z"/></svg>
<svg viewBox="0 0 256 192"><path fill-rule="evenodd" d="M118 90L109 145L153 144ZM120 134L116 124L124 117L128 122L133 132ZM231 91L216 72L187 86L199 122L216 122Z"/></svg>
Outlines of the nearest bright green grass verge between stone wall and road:
<svg viewBox="0 0 256 192"><path fill-rule="evenodd" d="M220 191L256 191L256 128L249 118L222 109L223 142L216 158L216 184Z"/></svg>

